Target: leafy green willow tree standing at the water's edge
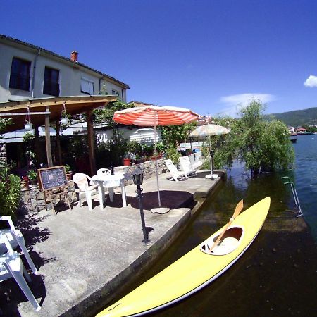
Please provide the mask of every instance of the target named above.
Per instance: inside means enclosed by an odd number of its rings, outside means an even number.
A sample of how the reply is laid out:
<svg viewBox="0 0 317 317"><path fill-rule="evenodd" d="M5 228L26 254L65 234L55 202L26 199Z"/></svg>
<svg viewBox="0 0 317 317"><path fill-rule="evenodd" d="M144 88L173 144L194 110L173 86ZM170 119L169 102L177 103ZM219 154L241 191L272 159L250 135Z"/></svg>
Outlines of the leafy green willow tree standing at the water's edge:
<svg viewBox="0 0 317 317"><path fill-rule="evenodd" d="M287 126L279 120L264 120L265 108L261 101L253 99L241 108L239 118L231 120L231 132L217 151L218 165L231 167L236 159L244 162L252 175L292 166L294 149Z"/></svg>

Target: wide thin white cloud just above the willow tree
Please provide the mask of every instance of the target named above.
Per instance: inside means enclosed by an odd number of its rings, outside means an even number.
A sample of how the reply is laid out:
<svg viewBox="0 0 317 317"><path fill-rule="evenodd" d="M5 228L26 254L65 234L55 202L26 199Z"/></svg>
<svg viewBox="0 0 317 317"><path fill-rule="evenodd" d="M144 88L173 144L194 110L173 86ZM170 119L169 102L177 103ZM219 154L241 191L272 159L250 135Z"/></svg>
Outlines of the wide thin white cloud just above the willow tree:
<svg viewBox="0 0 317 317"><path fill-rule="evenodd" d="M231 96L224 96L220 98L220 101L223 104L226 104L227 107L221 111L223 114L228 116L236 116L237 111L242 106L247 106L249 102L252 100L260 100L263 102L263 104L266 104L267 102L275 100L275 97L273 94L232 94Z"/></svg>

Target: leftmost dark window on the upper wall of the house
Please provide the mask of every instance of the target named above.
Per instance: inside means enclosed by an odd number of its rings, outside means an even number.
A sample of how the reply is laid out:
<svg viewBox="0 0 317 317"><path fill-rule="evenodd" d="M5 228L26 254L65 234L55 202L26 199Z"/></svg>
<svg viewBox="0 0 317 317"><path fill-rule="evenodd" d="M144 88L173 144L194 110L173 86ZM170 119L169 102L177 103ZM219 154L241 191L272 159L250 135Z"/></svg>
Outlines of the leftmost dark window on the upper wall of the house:
<svg viewBox="0 0 317 317"><path fill-rule="evenodd" d="M30 90L31 62L13 57L9 87L21 90Z"/></svg>

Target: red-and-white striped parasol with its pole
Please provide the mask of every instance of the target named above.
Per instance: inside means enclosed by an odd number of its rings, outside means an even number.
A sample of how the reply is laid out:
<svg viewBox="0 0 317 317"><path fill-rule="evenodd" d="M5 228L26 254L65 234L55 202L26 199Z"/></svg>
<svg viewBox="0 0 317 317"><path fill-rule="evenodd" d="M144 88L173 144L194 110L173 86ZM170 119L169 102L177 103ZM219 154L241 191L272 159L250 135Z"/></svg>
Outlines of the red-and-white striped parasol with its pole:
<svg viewBox="0 0 317 317"><path fill-rule="evenodd" d="M171 106L143 106L116 111L113 120L125 125L139 125L141 127L154 127L154 154L156 165L156 182L161 207L159 189L159 173L156 159L156 126L157 125L182 125L198 120L198 114L189 109Z"/></svg>

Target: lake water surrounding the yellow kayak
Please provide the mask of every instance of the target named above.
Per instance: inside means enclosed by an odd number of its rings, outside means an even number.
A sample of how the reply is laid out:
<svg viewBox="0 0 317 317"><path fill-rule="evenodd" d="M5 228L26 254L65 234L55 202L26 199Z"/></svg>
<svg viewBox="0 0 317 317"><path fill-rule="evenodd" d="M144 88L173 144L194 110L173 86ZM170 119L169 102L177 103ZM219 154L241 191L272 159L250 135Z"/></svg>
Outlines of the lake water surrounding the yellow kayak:
<svg viewBox="0 0 317 317"><path fill-rule="evenodd" d="M271 197L263 228L234 266L200 292L151 316L316 316L317 135L300 136L293 146L294 170L251 180L242 166L233 166L173 247L130 287L134 289L206 240L228 222L240 199L247 208ZM309 228L304 218L296 218L294 199L282 176L294 181Z"/></svg>

